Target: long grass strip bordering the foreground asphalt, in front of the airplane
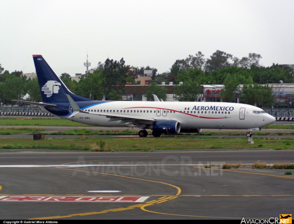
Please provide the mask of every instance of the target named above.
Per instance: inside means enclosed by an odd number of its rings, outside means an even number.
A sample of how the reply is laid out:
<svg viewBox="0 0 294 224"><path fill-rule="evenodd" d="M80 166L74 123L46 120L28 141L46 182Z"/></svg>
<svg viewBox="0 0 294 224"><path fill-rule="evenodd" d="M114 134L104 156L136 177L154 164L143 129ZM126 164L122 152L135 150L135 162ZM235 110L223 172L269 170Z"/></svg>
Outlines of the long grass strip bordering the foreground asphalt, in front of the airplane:
<svg viewBox="0 0 294 224"><path fill-rule="evenodd" d="M255 144L248 144L247 138L219 138L219 137L199 137L199 138L105 138L105 151L153 151L165 149L228 149L228 148L258 148L262 144L263 148L270 149L293 149L294 141L279 139L255 138ZM41 148L41 149L74 149L90 150L93 144L96 146L96 138L59 138L33 141L27 138L1 138L0 149L5 148ZM290 143L290 146L286 143Z"/></svg>

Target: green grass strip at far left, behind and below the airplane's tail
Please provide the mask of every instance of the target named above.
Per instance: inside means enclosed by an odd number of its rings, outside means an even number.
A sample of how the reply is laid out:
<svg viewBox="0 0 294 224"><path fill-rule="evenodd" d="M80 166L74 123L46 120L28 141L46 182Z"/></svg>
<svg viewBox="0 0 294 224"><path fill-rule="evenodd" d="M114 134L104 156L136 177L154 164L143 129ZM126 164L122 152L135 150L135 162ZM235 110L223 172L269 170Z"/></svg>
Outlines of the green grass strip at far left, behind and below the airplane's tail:
<svg viewBox="0 0 294 224"><path fill-rule="evenodd" d="M16 126L91 126L72 122L66 119L49 118L49 117L0 117L0 125L16 125Z"/></svg>

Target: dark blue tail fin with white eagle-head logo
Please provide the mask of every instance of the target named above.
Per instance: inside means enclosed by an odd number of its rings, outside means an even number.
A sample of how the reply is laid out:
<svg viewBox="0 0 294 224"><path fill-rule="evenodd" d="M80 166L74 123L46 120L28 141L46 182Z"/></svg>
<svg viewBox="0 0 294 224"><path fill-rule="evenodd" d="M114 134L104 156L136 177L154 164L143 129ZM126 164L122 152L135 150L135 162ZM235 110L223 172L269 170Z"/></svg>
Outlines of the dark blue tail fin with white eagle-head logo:
<svg viewBox="0 0 294 224"><path fill-rule="evenodd" d="M69 100L65 94L70 95L74 101L90 101L88 98L75 95L69 91L42 55L34 54L33 59L43 102L68 102Z"/></svg>

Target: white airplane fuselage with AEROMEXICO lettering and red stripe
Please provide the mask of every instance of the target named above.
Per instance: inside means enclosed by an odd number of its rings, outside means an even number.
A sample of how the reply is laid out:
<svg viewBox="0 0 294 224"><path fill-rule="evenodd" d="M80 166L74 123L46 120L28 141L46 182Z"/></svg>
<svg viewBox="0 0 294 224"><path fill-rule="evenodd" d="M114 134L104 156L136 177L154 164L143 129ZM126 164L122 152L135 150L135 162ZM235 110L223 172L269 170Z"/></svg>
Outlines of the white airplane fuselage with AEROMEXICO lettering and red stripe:
<svg viewBox="0 0 294 224"><path fill-rule="evenodd" d="M181 129L252 129L264 127L275 121L274 117L262 109L240 103L149 101L89 101L88 105L85 105L85 102L76 103L86 112L131 115L153 118L156 121L176 120L180 122ZM70 104L63 104L61 107L64 108L62 115L53 114L74 122L106 127L129 126L126 123L118 123L121 119L109 121L109 117L97 114L79 112L69 118ZM44 107L42 110L52 113Z"/></svg>

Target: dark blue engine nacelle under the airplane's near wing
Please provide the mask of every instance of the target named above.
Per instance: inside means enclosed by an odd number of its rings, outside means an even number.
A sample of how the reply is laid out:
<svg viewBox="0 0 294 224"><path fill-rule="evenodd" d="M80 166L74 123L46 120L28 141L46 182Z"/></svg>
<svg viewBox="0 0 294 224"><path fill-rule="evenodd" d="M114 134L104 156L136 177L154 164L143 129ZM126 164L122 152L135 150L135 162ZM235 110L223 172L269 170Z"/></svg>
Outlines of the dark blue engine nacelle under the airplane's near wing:
<svg viewBox="0 0 294 224"><path fill-rule="evenodd" d="M150 129L161 134L175 134L181 131L181 124L180 122L173 120L156 121L153 122Z"/></svg>

